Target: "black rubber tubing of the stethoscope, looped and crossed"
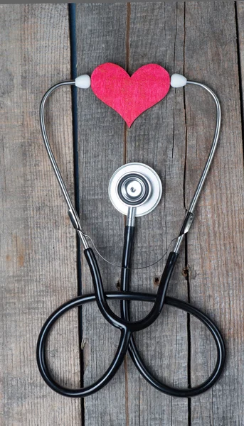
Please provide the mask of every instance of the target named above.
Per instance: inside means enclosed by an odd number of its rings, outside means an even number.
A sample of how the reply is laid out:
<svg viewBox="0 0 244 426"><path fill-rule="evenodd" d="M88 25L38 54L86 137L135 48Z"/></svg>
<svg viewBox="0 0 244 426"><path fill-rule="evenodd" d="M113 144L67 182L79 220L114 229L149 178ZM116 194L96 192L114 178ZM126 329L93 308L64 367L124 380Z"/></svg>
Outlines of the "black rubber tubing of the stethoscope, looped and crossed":
<svg viewBox="0 0 244 426"><path fill-rule="evenodd" d="M55 310L55 312L53 312L53 314L48 318L48 320L45 322L41 329L36 349L38 368L41 373L41 376L43 377L43 380L46 381L47 385L51 389L53 389L53 391L60 393L60 395L78 398L85 397L87 395L92 395L92 393L100 391L100 389L106 386L107 383L112 379L112 377L115 376L115 373L120 368L128 349L129 354L134 362L134 365L137 367L139 373L141 373L142 376L152 386L154 386L154 388L157 388L159 391L166 393L167 395L184 398L199 395L200 393L207 391L208 388L211 388L211 386L213 386L213 384L216 383L218 378L221 376L225 364L226 351L223 338L221 337L221 333L219 332L218 327L216 327L216 325L213 324L213 322L206 315L204 315L203 312L197 310L195 307L192 307L191 305L186 302L183 302L182 300L166 297L166 290L169 285L169 280L171 278L171 274L174 270L174 265L178 256L176 253L169 253L169 257L166 261L166 266L164 267L164 272L161 276L157 295L148 295L147 293L132 293L128 291L129 265L132 253L133 236L134 228L131 226L126 226L124 231L124 249L122 256L122 292L107 294L105 293L95 255L92 249L86 249L84 251L85 258L87 259L87 263L90 268L95 293L92 295L76 297L75 299L70 300L70 302L65 303L57 310ZM112 312L109 305L107 304L107 299L121 300L121 318L115 315L114 312ZM131 322L129 320L130 300L153 302L154 305L152 307L152 310L146 317L144 317L143 320ZM105 319L110 324L112 324L113 327L120 329L120 342L117 346L115 357L112 360L112 363L110 364L109 368L107 368L107 371L105 371L102 377L95 381L95 383L92 383L92 385L89 386L85 386L84 388L65 388L64 386L60 385L55 381L48 368L48 364L46 361L46 343L48 339L48 334L50 333L53 324L55 324L58 318L64 315L65 312L68 312L68 310L73 309L73 307L79 307L84 303L92 301L97 302L97 305L103 317L105 317ZM201 385L196 386L195 388L178 389L165 385L157 378L155 378L152 373L150 373L149 369L144 364L141 356L139 355L139 351L137 349L132 333L149 327L149 325L151 325L160 315L164 303L177 307L181 310L185 310L186 312L189 312L189 314L194 315L196 318L198 318L198 320L203 322L203 324L205 324L206 327L209 329L216 343L217 362L213 373L204 383L201 383Z"/></svg>

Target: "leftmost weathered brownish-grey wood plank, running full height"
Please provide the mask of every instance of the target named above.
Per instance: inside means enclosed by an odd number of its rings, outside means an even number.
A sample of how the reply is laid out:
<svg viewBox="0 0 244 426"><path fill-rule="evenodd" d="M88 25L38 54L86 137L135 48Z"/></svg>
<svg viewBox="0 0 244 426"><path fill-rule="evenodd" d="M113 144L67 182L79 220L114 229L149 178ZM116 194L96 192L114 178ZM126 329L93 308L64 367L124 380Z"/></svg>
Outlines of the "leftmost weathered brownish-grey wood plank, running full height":
<svg viewBox="0 0 244 426"><path fill-rule="evenodd" d="M36 340L46 317L77 292L75 235L39 129L43 92L70 77L67 5L1 5L1 425L80 424L80 401L42 381ZM57 110L57 104L60 108ZM73 191L70 92L48 107L48 130ZM52 333L49 358L79 384L77 312Z"/></svg>

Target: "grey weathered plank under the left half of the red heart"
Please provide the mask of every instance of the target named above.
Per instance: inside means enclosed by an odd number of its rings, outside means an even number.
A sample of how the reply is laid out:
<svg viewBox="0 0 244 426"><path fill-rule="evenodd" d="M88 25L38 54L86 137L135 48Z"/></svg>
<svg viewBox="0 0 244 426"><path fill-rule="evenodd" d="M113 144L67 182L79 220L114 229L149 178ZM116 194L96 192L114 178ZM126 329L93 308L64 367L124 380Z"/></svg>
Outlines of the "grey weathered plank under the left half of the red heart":
<svg viewBox="0 0 244 426"><path fill-rule="evenodd" d="M125 65L126 4L78 4L78 74L90 74L102 62ZM124 219L108 197L112 173L123 163L124 124L91 90L78 92L80 210L83 229L102 255L120 265ZM97 259L106 290L115 290L120 268ZM83 263L83 293L93 291ZM118 303L113 308L119 307ZM119 332L103 320L95 304L83 309L84 384L102 376L112 361ZM85 398L85 425L124 426L125 395L122 368L109 385Z"/></svg>

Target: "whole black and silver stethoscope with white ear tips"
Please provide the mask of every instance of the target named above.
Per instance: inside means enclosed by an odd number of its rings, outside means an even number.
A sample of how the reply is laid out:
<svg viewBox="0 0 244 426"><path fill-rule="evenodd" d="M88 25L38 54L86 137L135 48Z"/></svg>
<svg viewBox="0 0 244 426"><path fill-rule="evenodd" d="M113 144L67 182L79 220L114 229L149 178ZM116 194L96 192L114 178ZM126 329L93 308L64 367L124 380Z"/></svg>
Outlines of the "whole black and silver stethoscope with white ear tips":
<svg viewBox="0 0 244 426"><path fill-rule="evenodd" d="M92 393L100 391L100 389L107 385L107 383L112 379L112 377L115 376L115 373L120 368L124 360L124 356L125 354L127 354L127 351L129 351L129 355L131 356L132 361L137 367L139 373L141 373L141 375L152 386L154 386L154 388L168 395L185 398L199 395L211 388L211 386L213 386L213 384L216 383L216 381L218 381L218 378L221 376L226 359L226 350L223 342L223 337L221 336L218 327L216 327L216 324L214 324L209 317L203 314L203 312L196 309L196 307L189 305L189 303L175 299L173 297L166 297L166 290L171 279L171 274L174 271L176 260L179 256L179 249L181 247L182 241L184 240L184 236L189 232L189 229L191 228L191 224L194 218L194 210L196 208L198 198L201 194L204 182L208 175L208 170L213 161L214 153L216 152L216 146L218 143L221 126L221 106L216 94L205 84L187 81L186 77L184 77L183 75L174 74L171 76L172 87L183 87L186 84L201 87L205 89L209 94L211 94L211 97L213 97L213 100L216 104L216 130L213 138L213 143L211 145L211 151L208 155L208 160L206 161L206 165L203 169L203 173L201 174L201 178L196 187L196 191L189 205L189 209L186 213L186 216L184 217L184 221L179 231L179 235L176 238L174 249L171 251L171 253L169 253L169 256L166 260L166 265L161 275L161 280L156 295L152 295L149 293L134 293L129 291L129 273L131 267L135 220L136 217L144 216L145 214L152 212L152 210L157 207L162 192L161 181L159 179L159 176L152 168L142 163L129 163L126 165L122 165L122 167L116 170L114 175L112 175L112 178L109 183L110 200L116 209L118 209L122 214L127 216L127 222L124 228L124 247L122 253L120 291L105 293L95 254L92 251L92 248L88 245L87 236L81 227L80 219L75 210L75 207L73 206L73 203L70 200L68 190L65 187L63 178L60 175L60 170L53 156L53 152L48 141L48 135L46 133L46 124L44 119L46 102L48 100L48 97L50 97L50 95L56 89L58 89L59 87L73 85L75 85L76 87L87 89L88 87L90 87L90 77L88 75L81 75L75 80L55 84L53 87L51 87L51 89L48 90L48 92L46 92L41 101L40 120L43 141L45 143L48 156L51 160L53 170L58 179L58 183L65 197L65 201L68 204L68 215L70 217L70 221L72 222L75 230L78 232L80 241L83 244L84 255L90 268L92 282L94 285L93 294L75 297L75 299L70 300L64 303L62 306L58 307L58 309L51 314L48 320L46 320L38 337L36 356L41 376L43 377L43 380L46 381L47 385L50 386L51 389L53 389L53 391L60 393L61 395L73 398L85 397L87 395L91 395ZM118 315L115 315L114 312L112 312L110 306L107 303L107 300L120 300L120 317ZM132 300L140 302L151 302L153 304L152 310L142 320L131 321L129 313L129 302ZM107 322L109 322L113 327L120 329L120 342L118 344L115 357L112 360L112 363L110 364L109 368L107 368L107 371L105 371L102 377L95 381L95 383L92 383L89 386L85 386L84 388L66 388L55 381L50 369L48 368L48 362L46 359L46 343L48 339L48 334L51 332L53 324L55 324L55 322L66 312L73 309L74 307L80 307L85 303L94 301L97 302L97 306L99 307L103 317L105 317L105 320L107 320ZM161 310L164 307L164 304L171 305L173 307L177 307L181 310L184 310L185 312L188 312L189 314L193 315L198 320L203 322L203 324L211 332L214 342L216 344L216 366L213 372L211 373L211 376L209 376L206 381L201 383L201 385L196 386L195 388L173 388L159 381L159 379L154 377L152 372L149 371L147 366L142 361L142 357L140 356L139 351L137 349L137 345L134 341L134 333L149 327L155 320L157 320L157 317L159 317Z"/></svg>

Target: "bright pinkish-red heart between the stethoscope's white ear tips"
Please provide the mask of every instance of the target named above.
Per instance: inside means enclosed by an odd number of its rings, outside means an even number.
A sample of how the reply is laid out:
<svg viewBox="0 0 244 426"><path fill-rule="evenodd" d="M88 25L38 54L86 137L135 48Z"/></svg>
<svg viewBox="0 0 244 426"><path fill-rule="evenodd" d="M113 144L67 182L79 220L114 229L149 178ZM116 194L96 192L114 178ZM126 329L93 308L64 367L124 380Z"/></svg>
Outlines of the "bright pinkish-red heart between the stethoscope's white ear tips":
<svg viewBox="0 0 244 426"><path fill-rule="evenodd" d="M132 77L119 65L107 62L92 72L95 95L115 109L130 127L135 119L164 99L169 92L169 72L156 64L140 67Z"/></svg>

